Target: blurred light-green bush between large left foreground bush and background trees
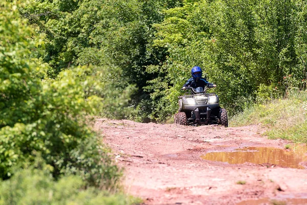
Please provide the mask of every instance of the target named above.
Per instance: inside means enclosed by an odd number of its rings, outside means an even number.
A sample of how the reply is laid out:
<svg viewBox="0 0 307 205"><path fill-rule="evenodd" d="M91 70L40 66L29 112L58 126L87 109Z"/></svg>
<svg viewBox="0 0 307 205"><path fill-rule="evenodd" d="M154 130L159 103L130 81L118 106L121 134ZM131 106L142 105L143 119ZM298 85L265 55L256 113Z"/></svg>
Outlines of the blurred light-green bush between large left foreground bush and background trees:
<svg viewBox="0 0 307 205"><path fill-rule="evenodd" d="M94 114L108 118L128 118L136 115L129 105L135 86L127 83L118 67L82 66L59 73L56 81L73 79L84 92L87 103L92 103Z"/></svg>

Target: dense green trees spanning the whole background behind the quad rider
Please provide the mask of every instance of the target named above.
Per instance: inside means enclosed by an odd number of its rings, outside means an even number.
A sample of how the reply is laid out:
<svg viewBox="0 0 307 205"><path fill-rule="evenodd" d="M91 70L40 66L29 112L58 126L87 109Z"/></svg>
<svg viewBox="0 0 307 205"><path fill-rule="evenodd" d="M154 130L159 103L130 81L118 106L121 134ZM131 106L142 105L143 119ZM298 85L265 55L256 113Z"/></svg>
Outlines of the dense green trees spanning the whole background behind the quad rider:
<svg viewBox="0 0 307 205"><path fill-rule="evenodd" d="M47 35L41 57L49 76L77 65L117 66L138 89L130 105L139 120L176 112L195 65L231 113L306 77L302 0L31 0L20 13Z"/></svg>

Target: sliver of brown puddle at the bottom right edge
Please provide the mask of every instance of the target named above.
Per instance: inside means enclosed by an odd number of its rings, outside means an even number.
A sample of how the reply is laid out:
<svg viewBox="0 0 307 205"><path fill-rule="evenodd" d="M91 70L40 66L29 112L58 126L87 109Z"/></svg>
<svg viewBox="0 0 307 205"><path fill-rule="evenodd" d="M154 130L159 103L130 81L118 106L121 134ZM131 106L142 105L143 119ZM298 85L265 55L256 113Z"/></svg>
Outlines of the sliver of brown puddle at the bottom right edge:
<svg viewBox="0 0 307 205"><path fill-rule="evenodd" d="M258 205L258 204L307 204L306 198L288 198L288 199L269 199L269 198L262 198L262 199L251 199L246 201L241 201L237 203L236 205Z"/></svg>

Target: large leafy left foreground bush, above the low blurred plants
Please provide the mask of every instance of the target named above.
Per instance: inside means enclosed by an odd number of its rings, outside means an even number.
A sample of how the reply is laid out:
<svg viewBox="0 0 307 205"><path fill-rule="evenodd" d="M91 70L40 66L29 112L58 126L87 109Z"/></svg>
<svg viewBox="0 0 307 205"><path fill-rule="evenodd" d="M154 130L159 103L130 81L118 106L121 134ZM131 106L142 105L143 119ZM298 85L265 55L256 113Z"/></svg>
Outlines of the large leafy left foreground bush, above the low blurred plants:
<svg viewBox="0 0 307 205"><path fill-rule="evenodd" d="M41 41L15 3L0 3L0 11L0 177L40 152L56 178L75 173L89 186L115 187L121 173L83 119L98 97L85 100L72 77L41 80L44 67L31 58Z"/></svg>

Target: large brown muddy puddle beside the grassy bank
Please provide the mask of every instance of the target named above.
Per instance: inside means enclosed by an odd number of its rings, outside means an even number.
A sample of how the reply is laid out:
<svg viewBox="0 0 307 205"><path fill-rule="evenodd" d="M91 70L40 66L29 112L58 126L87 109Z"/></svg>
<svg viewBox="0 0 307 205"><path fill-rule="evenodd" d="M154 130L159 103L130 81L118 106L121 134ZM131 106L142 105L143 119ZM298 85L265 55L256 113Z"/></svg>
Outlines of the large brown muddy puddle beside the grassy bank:
<svg viewBox="0 0 307 205"><path fill-rule="evenodd" d="M231 164L249 162L258 165L269 164L296 169L307 168L302 165L302 162L307 161L305 150L303 152L294 152L278 148L246 147L235 149L232 152L210 152L201 157L206 160L222 161Z"/></svg>

